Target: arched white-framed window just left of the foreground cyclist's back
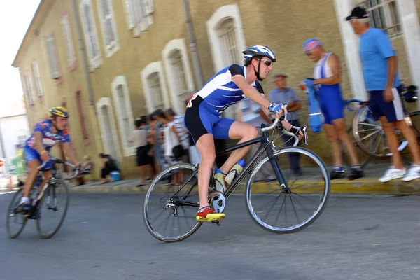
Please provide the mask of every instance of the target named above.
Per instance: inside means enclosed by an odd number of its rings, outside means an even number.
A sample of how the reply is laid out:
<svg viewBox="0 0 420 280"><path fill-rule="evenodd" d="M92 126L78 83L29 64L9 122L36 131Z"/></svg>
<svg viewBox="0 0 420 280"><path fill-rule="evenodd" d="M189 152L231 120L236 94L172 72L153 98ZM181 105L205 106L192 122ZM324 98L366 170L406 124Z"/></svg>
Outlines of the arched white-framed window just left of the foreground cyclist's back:
<svg viewBox="0 0 420 280"><path fill-rule="evenodd" d="M162 57L165 62L172 104L176 111L181 113L184 110L183 102L186 95L194 90L185 40L169 41L162 50Z"/></svg>

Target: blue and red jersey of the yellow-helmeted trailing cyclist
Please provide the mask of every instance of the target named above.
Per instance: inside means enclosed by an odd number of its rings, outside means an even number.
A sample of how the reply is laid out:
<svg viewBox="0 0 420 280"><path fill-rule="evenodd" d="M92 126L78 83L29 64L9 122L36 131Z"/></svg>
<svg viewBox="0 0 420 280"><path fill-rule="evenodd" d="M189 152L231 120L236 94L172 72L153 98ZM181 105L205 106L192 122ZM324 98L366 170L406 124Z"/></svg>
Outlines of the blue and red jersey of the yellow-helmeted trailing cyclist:
<svg viewBox="0 0 420 280"><path fill-rule="evenodd" d="M46 151L50 151L52 146L55 146L59 144L59 142L67 143L70 142L70 134L68 130L63 130L62 132L59 132L57 134L53 134L51 132L51 123L49 120L43 120L39 123L36 123L34 128L34 134L35 132L41 132L42 134L42 144ZM39 162L42 162L41 155L36 150L36 141L35 141L35 135L31 134L26 140L26 144L24 147L24 153L25 153L25 162L28 164L31 160L39 160ZM52 167L52 160L50 160L44 167L43 170L49 169Z"/></svg>

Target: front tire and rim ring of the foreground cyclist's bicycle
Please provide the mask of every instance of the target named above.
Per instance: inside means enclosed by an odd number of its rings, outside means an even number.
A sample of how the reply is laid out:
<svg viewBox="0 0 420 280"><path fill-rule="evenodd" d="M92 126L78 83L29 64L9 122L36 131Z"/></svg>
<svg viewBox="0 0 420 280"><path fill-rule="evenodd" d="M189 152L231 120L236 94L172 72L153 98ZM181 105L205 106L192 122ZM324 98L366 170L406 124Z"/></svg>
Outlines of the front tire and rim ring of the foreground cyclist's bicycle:
<svg viewBox="0 0 420 280"><path fill-rule="evenodd" d="M255 223L257 223L257 225L259 225L264 230L267 230L269 232L274 232L277 234L297 232L297 231L303 230L304 228L307 228L309 225L311 225L311 223L314 223L314 221L316 221L316 219L319 216L321 216L323 210L327 206L328 199L330 197L330 190L331 190L331 180L330 180L330 174L328 173L328 168L325 165L325 162L323 162L323 160L318 155L316 155L316 153L308 150L307 148L286 147L286 148L281 148L278 151L275 151L274 156L276 157L278 155L281 155L281 153L285 153L285 151L286 152L295 151L298 153L303 153L309 156L309 158L311 158L312 160L314 160L314 162L316 162L318 166L321 167L321 172L323 174L323 179L325 181L325 191L322 196L321 204L318 205L318 208L316 209L314 214L312 214L304 222L298 225L295 225L293 227L274 229L274 227L272 227L271 225L267 225L267 223L265 223L259 218L256 212L253 210L253 205L251 204L251 186L253 184L253 177L255 176L255 174L258 173L258 170L265 164L265 162L269 160L268 156L265 156L265 158L262 158L262 160L258 162L258 164L255 166L255 168L251 172L251 177L250 179L248 179L248 183L246 184L246 195L245 195L246 208L248 209L248 213L251 215L251 218L253 219Z"/></svg>

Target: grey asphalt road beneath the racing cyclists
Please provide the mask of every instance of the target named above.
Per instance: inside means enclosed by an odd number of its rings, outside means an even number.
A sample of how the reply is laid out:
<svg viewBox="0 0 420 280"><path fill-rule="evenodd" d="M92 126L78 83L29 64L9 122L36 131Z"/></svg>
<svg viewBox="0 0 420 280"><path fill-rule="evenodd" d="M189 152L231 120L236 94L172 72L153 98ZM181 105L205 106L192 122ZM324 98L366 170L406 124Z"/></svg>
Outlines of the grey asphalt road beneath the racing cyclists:
<svg viewBox="0 0 420 280"><path fill-rule="evenodd" d="M71 194L64 225L40 239L29 221L8 239L0 195L0 279L420 279L420 197L333 196L308 228L262 230L244 197L221 226L165 244L141 216L144 195Z"/></svg>

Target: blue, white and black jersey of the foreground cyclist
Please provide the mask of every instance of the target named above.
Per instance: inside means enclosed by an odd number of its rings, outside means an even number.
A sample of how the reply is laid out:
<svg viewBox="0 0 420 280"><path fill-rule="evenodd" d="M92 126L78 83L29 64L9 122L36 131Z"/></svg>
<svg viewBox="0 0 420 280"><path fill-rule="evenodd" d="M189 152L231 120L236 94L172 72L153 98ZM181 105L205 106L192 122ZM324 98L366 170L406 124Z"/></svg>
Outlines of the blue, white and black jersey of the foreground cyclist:
<svg viewBox="0 0 420 280"><path fill-rule="evenodd" d="M246 99L244 92L232 80L235 75L246 77L246 68L232 64L222 69L204 85L202 90L197 92L197 95L202 97L218 113L221 113L229 106ZM258 81L251 83L251 86L256 87L259 92L263 93Z"/></svg>

